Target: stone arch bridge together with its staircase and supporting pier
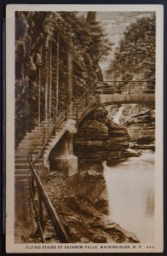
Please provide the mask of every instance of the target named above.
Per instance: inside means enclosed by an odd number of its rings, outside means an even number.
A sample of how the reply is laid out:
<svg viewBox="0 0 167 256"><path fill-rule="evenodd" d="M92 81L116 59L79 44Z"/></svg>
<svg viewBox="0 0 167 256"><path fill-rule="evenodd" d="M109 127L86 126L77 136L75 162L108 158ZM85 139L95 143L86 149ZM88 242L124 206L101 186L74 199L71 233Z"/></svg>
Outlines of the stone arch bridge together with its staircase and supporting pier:
<svg viewBox="0 0 167 256"><path fill-rule="evenodd" d="M45 119L31 132L26 133L15 151L16 181L26 183L26 174L25 177L20 177L20 170L25 168L19 161L20 154L23 153L31 155L30 162L36 169L44 164L49 172L54 171L53 166L58 166L58 169L66 170L68 175L75 174L78 172L78 158L73 154L72 134L77 132L79 123L88 113L101 105L152 102L155 102L154 83L95 82L83 96L67 102L51 119Z"/></svg>

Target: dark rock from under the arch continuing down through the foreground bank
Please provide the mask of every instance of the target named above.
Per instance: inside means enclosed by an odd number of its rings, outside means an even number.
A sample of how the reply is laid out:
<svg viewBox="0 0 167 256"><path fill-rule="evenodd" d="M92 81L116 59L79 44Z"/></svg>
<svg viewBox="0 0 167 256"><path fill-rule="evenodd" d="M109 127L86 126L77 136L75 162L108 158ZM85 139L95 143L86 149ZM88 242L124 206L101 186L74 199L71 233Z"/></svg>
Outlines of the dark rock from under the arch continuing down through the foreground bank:
<svg viewBox="0 0 167 256"><path fill-rule="evenodd" d="M139 242L135 234L124 230L108 216L107 187L101 162L107 160L107 165L114 165L132 153L127 150L128 132L107 115L105 108L98 108L80 124L74 136L78 173L63 177L63 173L55 172L49 183L44 184L70 242Z"/></svg>

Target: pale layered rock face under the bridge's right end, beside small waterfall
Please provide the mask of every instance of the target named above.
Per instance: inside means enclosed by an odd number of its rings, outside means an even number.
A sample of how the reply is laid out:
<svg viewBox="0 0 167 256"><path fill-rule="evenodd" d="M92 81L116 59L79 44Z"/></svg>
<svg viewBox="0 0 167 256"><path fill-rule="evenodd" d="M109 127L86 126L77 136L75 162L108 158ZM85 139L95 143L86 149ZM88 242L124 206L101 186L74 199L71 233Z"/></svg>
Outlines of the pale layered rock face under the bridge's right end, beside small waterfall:
<svg viewBox="0 0 167 256"><path fill-rule="evenodd" d="M123 111L119 122L130 135L130 148L155 148L155 112L154 105L122 105ZM117 114L118 106L107 107L110 119Z"/></svg>

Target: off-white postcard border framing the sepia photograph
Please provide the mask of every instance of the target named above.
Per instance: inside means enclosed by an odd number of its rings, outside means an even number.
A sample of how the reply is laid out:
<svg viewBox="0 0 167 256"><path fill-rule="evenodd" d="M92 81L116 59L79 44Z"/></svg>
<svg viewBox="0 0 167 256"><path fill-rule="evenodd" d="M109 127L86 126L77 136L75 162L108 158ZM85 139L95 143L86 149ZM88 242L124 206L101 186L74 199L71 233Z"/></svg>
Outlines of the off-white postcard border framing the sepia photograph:
<svg viewBox="0 0 167 256"><path fill-rule="evenodd" d="M155 11L156 12L156 154L155 154L155 248L145 244L103 244L117 245L117 249L100 249L100 244L83 244L83 249L66 249L56 245L55 249L44 249L43 244L14 243L14 12L15 11ZM155 4L9 4L6 8L6 250L7 253L161 253L163 252L163 33L164 7ZM102 244L101 244L102 245ZM62 246L62 248L58 248ZM85 246L97 247L97 249ZM124 248L123 248L124 246ZM130 246L131 248L125 248ZM151 245L150 245L151 246Z"/></svg>

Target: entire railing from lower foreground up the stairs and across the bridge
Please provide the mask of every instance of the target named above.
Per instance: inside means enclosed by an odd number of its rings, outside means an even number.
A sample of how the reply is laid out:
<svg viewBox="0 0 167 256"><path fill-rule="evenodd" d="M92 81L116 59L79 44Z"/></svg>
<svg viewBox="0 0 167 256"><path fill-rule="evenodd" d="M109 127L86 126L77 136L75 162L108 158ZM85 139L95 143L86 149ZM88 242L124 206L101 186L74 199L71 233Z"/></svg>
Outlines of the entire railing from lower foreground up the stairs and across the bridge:
<svg viewBox="0 0 167 256"><path fill-rule="evenodd" d="M153 88L153 89L152 89ZM45 206L49 218L52 221L55 232L59 232L60 240L62 242L69 242L69 238L66 235L66 231L60 224L60 220L55 213L55 209L49 201L48 196L43 190L43 185L37 176L37 172L34 168L35 162L40 158L43 153L43 148L49 140L49 137L53 134L54 130L58 125L60 125L64 120L67 119L69 108L71 108L72 103L75 104L75 113L76 119L80 119L80 114L83 110L87 111L90 108L90 102L92 99L95 100L95 94L134 94L134 93L155 93L155 82L147 81L96 81L92 84L89 89L81 96L77 102L67 102L65 106L60 108L60 110L55 113L52 119L49 120L49 123L46 123L46 129L43 133L43 136L40 138L39 143L42 143L42 147L37 153L35 159L32 160L32 153L28 154L28 162L31 171L30 179L30 189L32 192L32 201L34 210L36 213L37 221L37 230L40 234L42 241L45 242L43 236L44 230L44 221L43 221L43 205ZM95 101L93 101L94 103ZM37 197L38 196L38 197Z"/></svg>

